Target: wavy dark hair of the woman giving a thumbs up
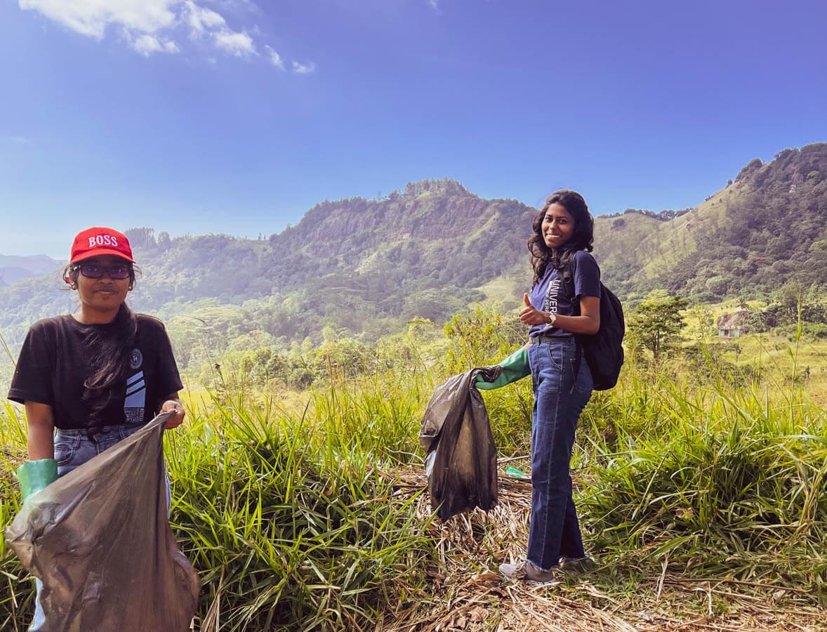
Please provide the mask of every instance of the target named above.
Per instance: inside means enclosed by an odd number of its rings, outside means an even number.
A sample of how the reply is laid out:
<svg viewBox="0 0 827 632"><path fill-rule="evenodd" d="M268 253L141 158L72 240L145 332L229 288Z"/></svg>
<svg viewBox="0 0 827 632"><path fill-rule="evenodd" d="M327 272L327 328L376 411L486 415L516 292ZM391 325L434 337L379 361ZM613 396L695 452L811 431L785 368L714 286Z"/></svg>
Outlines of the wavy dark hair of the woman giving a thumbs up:
<svg viewBox="0 0 827 632"><path fill-rule="evenodd" d="M554 203L560 204L574 218L574 232L571 234L571 239L563 244L562 252L557 252L557 256L552 256L552 251L546 246L546 240L543 238L543 218L546 217L548 208ZM549 263L559 270L571 261L576 251L591 252L594 249L591 243L595 239L595 220L589 213L586 200L576 191L560 189L549 195L543 208L534 216L531 230L532 235L528 238L528 251L531 253L531 267L534 271L532 285L537 285L538 281L543 278Z"/></svg>

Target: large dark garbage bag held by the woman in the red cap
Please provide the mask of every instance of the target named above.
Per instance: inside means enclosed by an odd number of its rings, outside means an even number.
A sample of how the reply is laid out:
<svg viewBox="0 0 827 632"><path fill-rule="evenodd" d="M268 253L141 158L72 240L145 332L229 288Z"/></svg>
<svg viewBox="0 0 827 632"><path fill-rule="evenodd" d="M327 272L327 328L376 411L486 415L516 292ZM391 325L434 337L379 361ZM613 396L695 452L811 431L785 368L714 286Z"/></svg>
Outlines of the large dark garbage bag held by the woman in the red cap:
<svg viewBox="0 0 827 632"><path fill-rule="evenodd" d="M160 414L23 504L6 538L43 582L42 630L189 630L198 574L167 519Z"/></svg>

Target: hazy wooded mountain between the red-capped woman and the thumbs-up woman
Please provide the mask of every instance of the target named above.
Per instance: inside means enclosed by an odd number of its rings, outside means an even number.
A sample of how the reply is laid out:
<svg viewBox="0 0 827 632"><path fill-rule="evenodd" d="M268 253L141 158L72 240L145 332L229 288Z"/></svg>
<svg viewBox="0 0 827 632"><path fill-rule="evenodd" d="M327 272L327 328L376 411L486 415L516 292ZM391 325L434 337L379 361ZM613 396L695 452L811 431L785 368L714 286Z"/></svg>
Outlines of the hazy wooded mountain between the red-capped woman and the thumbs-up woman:
<svg viewBox="0 0 827 632"><path fill-rule="evenodd" d="M481 199L453 180L428 180L385 199L319 203L266 241L127 234L151 304L299 291L333 294L337 309L356 299L399 315L421 290L455 290L463 304L478 298L474 288L508 270L515 252L523 255L532 213L514 200Z"/></svg>

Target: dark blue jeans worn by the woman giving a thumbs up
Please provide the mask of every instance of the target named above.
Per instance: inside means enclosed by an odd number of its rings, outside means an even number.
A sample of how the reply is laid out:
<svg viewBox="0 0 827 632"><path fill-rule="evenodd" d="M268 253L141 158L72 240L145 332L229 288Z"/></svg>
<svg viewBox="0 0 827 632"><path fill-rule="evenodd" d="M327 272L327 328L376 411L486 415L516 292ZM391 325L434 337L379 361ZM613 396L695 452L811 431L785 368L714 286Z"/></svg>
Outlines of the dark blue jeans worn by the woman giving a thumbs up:
<svg viewBox="0 0 827 632"><path fill-rule="evenodd" d="M551 571L561 557L582 558L583 538L571 497L571 449L577 420L594 382L586 358L575 376L576 342L560 338L528 347L534 390L531 425L531 521L529 563Z"/></svg>

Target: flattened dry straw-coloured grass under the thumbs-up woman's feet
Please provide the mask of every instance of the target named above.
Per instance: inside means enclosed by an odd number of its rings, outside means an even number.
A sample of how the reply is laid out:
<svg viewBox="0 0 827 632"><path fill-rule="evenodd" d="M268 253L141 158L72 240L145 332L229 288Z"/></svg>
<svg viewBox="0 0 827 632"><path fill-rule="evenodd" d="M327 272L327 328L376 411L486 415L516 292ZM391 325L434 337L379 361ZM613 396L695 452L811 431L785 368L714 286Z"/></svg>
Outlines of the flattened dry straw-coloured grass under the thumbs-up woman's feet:
<svg viewBox="0 0 827 632"><path fill-rule="evenodd" d="M396 493L427 485L413 469L385 473ZM423 520L427 495L418 499ZM616 562L554 586L504 581L497 565L516 559L528 538L531 484L500 476L500 502L446 523L434 521L438 562L428 569L418 606L388 613L376 630L827 630L827 610L806 591L722 577L685 577L668 563L660 574L619 577ZM627 590L618 590L626 585Z"/></svg>

